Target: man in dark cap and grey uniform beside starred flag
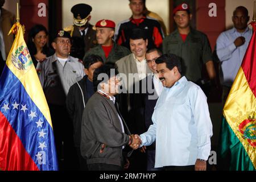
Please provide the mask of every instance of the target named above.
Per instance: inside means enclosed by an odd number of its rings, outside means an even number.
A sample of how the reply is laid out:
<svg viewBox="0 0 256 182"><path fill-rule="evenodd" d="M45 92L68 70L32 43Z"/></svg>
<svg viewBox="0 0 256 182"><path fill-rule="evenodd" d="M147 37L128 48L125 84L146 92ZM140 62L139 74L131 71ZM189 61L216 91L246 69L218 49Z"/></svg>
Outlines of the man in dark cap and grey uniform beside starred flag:
<svg viewBox="0 0 256 182"><path fill-rule="evenodd" d="M48 102L55 134L60 169L74 167L72 160L72 122L69 121L65 100L70 86L85 76L84 66L79 59L69 56L71 36L60 30L52 42L55 54L47 57L40 65L39 80ZM65 140L65 165L64 161ZM75 149L74 149L75 150ZM72 165L71 165L72 164Z"/></svg>

